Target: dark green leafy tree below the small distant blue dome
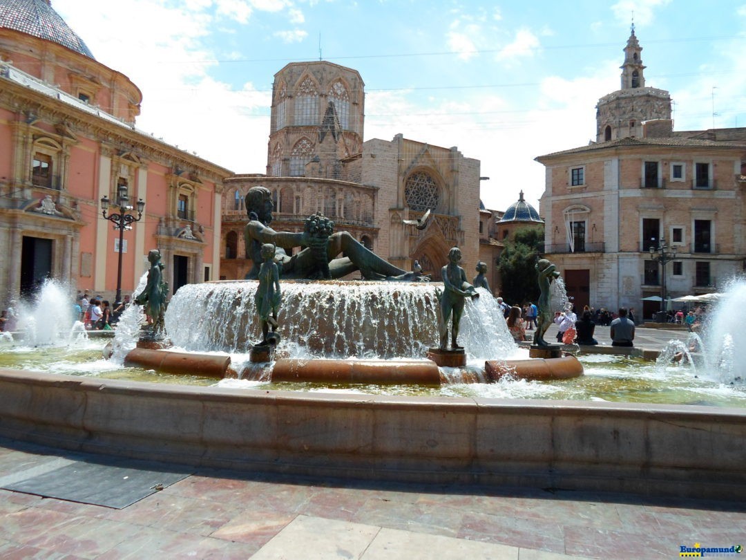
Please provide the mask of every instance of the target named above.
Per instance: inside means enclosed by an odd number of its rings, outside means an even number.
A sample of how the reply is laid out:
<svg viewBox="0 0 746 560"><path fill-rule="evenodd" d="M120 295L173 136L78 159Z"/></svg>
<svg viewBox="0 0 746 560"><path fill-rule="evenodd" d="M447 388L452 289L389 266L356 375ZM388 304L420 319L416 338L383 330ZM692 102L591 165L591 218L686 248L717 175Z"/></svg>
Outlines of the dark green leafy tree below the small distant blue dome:
<svg viewBox="0 0 746 560"><path fill-rule="evenodd" d="M539 277L536 261L544 247L544 228L522 228L498 258L501 296L509 305L521 305L539 299Z"/></svg>

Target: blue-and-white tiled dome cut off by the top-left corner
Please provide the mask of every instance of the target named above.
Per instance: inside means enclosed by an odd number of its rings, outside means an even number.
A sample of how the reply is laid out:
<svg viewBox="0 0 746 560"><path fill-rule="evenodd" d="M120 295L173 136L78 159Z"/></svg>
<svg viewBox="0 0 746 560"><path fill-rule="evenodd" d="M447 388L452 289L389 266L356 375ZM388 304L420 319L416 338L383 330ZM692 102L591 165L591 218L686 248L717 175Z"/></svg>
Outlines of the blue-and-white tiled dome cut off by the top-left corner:
<svg viewBox="0 0 746 560"><path fill-rule="evenodd" d="M0 0L0 28L57 43L89 58L93 53L51 7L51 0Z"/></svg>

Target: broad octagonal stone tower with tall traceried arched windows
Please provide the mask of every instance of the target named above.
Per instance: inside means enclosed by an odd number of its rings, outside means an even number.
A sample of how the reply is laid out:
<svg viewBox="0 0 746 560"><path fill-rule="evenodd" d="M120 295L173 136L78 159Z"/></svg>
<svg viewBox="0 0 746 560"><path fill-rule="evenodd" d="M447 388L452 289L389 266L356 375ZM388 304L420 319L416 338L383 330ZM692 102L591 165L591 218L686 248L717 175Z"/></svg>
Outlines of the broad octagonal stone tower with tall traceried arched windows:
<svg viewBox="0 0 746 560"><path fill-rule="evenodd" d="M342 162L363 150L364 87L357 70L321 60L275 74L267 175L344 178Z"/></svg>

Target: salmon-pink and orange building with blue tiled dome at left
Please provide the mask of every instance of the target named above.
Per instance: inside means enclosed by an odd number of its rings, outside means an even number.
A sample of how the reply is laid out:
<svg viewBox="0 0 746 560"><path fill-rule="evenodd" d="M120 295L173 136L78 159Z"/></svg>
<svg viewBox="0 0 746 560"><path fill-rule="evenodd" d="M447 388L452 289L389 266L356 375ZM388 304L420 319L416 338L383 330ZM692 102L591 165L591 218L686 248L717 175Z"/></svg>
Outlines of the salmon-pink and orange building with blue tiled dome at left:
<svg viewBox="0 0 746 560"><path fill-rule="evenodd" d="M228 169L139 131L142 94L95 60L49 0L0 0L0 305L46 278L113 299L119 235L100 200L145 201L122 290L160 249L172 292L217 275Z"/></svg>

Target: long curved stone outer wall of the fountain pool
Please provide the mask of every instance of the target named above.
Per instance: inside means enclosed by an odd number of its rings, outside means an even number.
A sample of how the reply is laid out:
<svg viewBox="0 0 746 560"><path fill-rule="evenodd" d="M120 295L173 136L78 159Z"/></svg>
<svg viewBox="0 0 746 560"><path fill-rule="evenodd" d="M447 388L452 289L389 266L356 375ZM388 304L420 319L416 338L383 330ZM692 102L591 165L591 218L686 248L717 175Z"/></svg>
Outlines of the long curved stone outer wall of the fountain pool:
<svg viewBox="0 0 746 560"><path fill-rule="evenodd" d="M746 498L746 410L340 395L0 370L0 435L204 467ZM717 481L717 482L716 482Z"/></svg>

